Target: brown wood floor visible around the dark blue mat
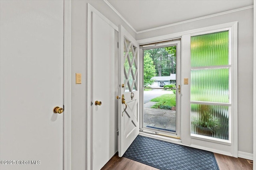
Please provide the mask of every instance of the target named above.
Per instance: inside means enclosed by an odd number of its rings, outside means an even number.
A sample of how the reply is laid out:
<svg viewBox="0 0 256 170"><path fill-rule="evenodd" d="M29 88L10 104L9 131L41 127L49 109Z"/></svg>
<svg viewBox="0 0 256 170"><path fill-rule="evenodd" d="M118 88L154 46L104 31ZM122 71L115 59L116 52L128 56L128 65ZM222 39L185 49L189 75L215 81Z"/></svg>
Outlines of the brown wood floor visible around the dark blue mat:
<svg viewBox="0 0 256 170"><path fill-rule="evenodd" d="M246 159L234 158L222 154L215 154L220 170L252 170L253 166ZM115 154L102 170L157 170L151 166L136 162L128 158L120 158Z"/></svg>

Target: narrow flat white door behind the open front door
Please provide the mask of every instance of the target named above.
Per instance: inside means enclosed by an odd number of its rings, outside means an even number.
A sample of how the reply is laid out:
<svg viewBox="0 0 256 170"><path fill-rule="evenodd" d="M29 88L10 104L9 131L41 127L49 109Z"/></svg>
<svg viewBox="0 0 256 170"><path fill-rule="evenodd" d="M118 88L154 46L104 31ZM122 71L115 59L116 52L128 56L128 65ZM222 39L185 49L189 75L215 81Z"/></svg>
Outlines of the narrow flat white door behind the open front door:
<svg viewBox="0 0 256 170"><path fill-rule="evenodd" d="M92 16L92 169L100 170L117 151L118 35L98 14Z"/></svg>

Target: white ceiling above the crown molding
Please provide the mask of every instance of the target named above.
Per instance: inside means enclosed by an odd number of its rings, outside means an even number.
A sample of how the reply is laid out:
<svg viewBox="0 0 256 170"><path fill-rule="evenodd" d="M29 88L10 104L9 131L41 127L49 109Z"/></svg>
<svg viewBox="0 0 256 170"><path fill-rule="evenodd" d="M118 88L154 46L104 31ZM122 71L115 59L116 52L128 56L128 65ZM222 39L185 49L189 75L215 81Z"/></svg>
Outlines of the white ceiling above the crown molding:
<svg viewBox="0 0 256 170"><path fill-rule="evenodd" d="M107 0L136 32L253 5L253 0Z"/></svg>

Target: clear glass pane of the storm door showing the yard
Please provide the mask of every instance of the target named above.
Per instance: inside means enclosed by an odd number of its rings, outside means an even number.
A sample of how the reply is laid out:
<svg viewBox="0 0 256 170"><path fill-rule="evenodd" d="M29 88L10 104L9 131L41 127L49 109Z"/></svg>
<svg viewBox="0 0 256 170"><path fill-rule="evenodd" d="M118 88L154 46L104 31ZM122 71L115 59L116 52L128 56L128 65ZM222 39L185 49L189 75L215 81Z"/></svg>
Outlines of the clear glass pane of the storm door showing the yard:
<svg viewBox="0 0 256 170"><path fill-rule="evenodd" d="M143 49L143 129L177 134L177 54L176 43Z"/></svg>

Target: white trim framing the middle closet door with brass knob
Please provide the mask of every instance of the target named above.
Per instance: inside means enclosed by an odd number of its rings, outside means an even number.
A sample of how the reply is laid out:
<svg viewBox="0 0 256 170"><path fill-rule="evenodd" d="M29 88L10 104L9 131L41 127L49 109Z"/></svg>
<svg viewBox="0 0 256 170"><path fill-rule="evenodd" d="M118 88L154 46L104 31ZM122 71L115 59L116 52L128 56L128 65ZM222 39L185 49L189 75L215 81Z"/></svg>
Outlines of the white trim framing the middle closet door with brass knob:
<svg viewBox="0 0 256 170"><path fill-rule="evenodd" d="M92 167L92 158L93 158L93 143L92 143L92 107L91 107L91 100L92 100L92 15L97 14L102 20L104 20L106 23L108 23L112 28L114 28L118 32L118 26L116 26L114 23L112 23L108 18L106 18L104 15L102 15L98 10L96 10L93 6L91 6L89 3L87 4L87 59L86 59L86 66L87 66L87 73L86 73L86 82L87 82L87 88L86 88L86 123L87 123L87 129L86 129L86 169L91 170Z"/></svg>

